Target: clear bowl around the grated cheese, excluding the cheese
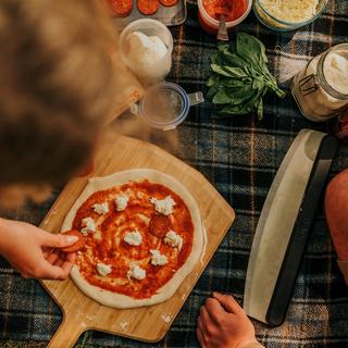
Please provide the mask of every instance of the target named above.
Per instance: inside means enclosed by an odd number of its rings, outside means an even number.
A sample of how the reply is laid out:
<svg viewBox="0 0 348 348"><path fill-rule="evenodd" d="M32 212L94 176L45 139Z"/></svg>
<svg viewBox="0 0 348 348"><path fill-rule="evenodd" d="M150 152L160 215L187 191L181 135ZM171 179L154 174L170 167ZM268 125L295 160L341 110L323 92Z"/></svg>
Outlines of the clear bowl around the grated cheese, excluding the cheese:
<svg viewBox="0 0 348 348"><path fill-rule="evenodd" d="M266 27L276 30L276 32L289 32L300 28L309 23L315 21L322 12L325 10L328 0L320 0L315 14L307 21L303 22L287 22L277 18L276 16L272 15L268 10L264 9L262 5L262 0L254 0L252 10L258 17L258 20Z"/></svg>

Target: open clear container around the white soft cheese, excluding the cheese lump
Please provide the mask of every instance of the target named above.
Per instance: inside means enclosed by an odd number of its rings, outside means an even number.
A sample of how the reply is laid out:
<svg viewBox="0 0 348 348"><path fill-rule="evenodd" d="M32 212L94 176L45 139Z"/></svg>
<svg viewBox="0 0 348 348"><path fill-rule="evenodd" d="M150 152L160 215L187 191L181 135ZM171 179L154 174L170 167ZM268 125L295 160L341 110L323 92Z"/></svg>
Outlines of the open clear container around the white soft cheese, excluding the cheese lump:
<svg viewBox="0 0 348 348"><path fill-rule="evenodd" d="M158 36L167 51L161 60L136 60L129 52L129 35L140 32L147 36ZM172 67L173 37L167 27L157 20L138 20L128 24L121 33L119 49L122 61L145 85L161 82Z"/></svg>

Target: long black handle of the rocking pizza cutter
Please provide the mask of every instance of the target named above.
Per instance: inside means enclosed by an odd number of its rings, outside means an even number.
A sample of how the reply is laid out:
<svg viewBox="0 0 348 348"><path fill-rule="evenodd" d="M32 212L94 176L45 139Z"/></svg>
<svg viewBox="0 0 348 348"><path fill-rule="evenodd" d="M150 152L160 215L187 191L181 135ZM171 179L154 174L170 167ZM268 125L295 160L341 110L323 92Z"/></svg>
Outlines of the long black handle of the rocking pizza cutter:
<svg viewBox="0 0 348 348"><path fill-rule="evenodd" d="M334 136L325 136L320 145L265 316L271 326L278 326L285 320L318 204L337 147L338 142Z"/></svg>

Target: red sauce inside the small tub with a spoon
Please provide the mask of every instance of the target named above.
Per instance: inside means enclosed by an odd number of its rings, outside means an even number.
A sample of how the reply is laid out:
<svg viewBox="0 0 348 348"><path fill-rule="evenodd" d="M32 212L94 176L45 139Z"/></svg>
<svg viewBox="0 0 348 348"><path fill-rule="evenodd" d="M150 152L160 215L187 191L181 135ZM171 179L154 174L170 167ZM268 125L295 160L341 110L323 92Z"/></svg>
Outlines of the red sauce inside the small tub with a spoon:
<svg viewBox="0 0 348 348"><path fill-rule="evenodd" d="M224 2L229 5L224 7ZM247 0L202 0L202 4L207 13L216 21L222 14L225 15L226 22L236 21L247 11Z"/></svg>

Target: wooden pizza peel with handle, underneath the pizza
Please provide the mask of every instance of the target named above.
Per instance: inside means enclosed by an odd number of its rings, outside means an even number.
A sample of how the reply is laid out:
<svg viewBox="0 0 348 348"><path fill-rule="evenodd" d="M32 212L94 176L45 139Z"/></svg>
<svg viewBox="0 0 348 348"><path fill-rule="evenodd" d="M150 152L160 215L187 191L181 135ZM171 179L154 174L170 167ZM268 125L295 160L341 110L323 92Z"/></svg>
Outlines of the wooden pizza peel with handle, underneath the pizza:
<svg viewBox="0 0 348 348"><path fill-rule="evenodd" d="M99 304L80 293L70 278L64 282L41 282L63 312L62 324L48 345L50 348L73 347L79 335L87 330L144 341L162 339L234 221L234 210L199 172L154 145L113 134L104 137L99 145L92 173L74 178L65 186L40 227L51 233L60 232L66 213L84 189L88 177L128 169L161 171L174 176L190 191L199 206L208 235L201 262L171 299L134 309L119 310Z"/></svg>

